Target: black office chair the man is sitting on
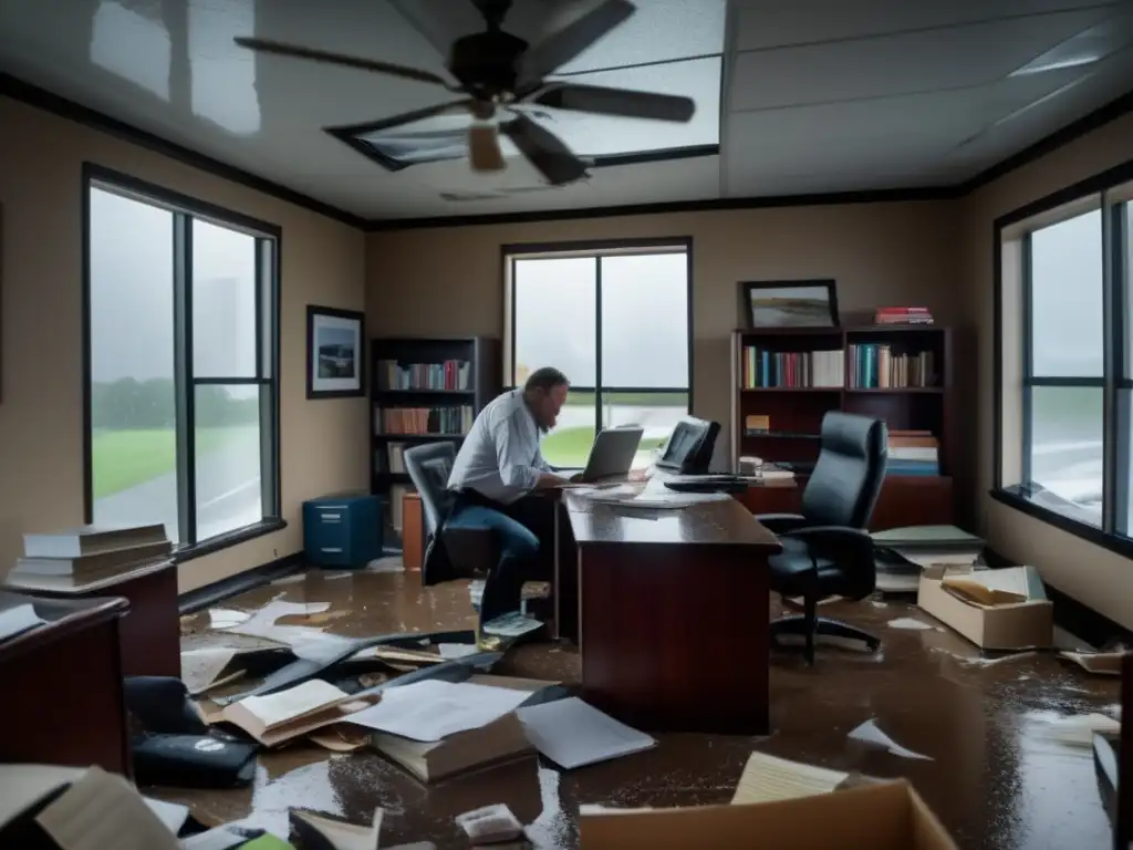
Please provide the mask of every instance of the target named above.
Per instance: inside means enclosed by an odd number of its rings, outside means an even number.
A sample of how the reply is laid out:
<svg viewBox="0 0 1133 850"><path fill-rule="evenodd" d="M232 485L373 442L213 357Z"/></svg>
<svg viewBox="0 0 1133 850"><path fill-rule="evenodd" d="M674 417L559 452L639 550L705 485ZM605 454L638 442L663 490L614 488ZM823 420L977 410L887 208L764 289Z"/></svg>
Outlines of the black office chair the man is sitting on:
<svg viewBox="0 0 1133 850"><path fill-rule="evenodd" d="M449 475L457 460L457 447L437 441L407 449L402 456L409 478L421 498L425 510L425 558L421 584L435 585L457 578L470 578L489 570L499 560L494 535L480 528L446 528L437 537L449 510L452 493Z"/></svg>

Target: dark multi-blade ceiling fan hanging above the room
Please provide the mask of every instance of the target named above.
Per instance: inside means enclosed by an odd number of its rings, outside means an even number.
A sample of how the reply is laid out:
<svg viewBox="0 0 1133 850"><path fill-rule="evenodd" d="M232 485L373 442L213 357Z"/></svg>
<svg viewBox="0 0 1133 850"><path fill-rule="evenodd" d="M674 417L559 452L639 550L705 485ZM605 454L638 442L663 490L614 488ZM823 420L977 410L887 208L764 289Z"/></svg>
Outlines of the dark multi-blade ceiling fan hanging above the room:
<svg viewBox="0 0 1133 850"><path fill-rule="evenodd" d="M538 108L676 122L689 121L696 111L690 97L546 79L633 15L637 7L629 0L589 0L585 11L534 44L503 29L512 0L469 2L484 17L485 29L458 39L449 48L445 67L459 82L458 86L432 71L390 62L264 39L239 37L236 43L265 53L432 83L461 93L466 97L407 113L406 120L467 110L474 119L468 130L469 162L474 171L499 171L505 167L499 136L503 133L553 186L581 179L586 176L587 163L562 139L531 119L533 111Z"/></svg>

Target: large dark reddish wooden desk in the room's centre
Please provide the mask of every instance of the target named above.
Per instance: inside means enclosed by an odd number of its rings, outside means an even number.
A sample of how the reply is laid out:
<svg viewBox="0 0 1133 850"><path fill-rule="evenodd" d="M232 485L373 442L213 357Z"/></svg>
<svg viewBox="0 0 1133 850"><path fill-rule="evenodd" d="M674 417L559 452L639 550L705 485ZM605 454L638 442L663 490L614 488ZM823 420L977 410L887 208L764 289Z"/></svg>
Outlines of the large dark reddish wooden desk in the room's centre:
<svg viewBox="0 0 1133 850"><path fill-rule="evenodd" d="M568 492L563 504L586 698L646 729L765 734L775 535L734 499L657 511Z"/></svg>

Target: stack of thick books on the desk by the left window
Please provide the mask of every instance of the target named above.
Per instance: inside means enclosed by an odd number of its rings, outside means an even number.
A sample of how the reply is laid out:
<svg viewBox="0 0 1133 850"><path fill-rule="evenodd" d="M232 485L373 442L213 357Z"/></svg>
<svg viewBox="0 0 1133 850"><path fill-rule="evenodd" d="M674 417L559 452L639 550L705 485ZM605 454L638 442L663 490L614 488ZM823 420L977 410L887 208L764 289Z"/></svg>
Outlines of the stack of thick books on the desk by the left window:
<svg viewBox="0 0 1133 850"><path fill-rule="evenodd" d="M160 522L25 534L24 556L8 575L20 586L66 590L162 561L172 547Z"/></svg>

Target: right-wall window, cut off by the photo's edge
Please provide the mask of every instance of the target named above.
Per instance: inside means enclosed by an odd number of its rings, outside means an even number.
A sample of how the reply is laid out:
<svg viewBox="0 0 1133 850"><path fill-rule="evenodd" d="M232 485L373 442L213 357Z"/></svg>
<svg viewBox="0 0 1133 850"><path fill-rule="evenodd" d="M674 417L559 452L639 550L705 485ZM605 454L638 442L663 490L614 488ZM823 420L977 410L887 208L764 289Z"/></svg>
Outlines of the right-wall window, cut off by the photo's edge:
<svg viewBox="0 0 1133 850"><path fill-rule="evenodd" d="M1133 187L1088 184L998 222L997 498L1126 549Z"/></svg>

